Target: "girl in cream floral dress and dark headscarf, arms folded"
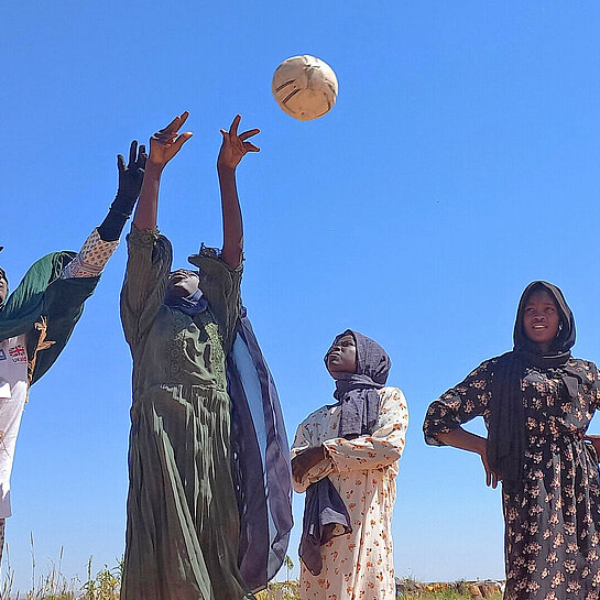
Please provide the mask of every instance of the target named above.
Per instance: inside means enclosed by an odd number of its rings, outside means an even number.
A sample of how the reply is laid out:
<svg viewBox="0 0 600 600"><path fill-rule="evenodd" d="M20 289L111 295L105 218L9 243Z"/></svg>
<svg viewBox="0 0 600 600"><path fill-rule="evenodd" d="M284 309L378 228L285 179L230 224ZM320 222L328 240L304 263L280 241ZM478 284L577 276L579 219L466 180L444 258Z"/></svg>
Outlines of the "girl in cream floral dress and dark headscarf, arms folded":
<svg viewBox="0 0 600 600"><path fill-rule="evenodd" d="M303 600L393 600L391 523L408 424L406 401L397 388L384 386L391 362L383 348L358 331L338 336L325 364L336 380L338 402L298 426L292 472L296 492L308 489L308 495L323 482L330 486L338 502L325 513L336 509L337 516L336 526L321 536L324 545L316 545L318 556L303 558L299 594ZM308 498L305 534L310 530L307 512Z"/></svg>

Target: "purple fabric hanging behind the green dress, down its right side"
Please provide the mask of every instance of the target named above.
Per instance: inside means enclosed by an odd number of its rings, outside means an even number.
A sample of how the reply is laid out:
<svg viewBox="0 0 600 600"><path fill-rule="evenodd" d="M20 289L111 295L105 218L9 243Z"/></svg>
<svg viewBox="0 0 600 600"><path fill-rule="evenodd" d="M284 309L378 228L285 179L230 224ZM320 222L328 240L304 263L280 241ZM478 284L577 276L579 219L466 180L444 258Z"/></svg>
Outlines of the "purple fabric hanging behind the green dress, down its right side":
<svg viewBox="0 0 600 600"><path fill-rule="evenodd" d="M292 474L277 391L246 309L227 359L227 380L240 511L239 566L249 589L259 591L276 575L287 552Z"/></svg>

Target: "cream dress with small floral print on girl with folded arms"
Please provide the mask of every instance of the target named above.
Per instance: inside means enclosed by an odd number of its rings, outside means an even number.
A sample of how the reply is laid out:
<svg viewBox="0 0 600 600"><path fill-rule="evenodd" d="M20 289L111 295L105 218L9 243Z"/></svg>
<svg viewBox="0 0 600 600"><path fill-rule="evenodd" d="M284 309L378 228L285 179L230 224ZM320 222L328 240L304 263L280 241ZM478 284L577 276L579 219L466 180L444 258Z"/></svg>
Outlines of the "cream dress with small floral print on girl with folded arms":
<svg viewBox="0 0 600 600"><path fill-rule="evenodd" d="M323 570L314 576L302 565L302 600L393 600L396 597L392 552L397 461L404 449L408 410L397 388L383 388L377 429L354 439L337 437L340 406L323 406L296 432L292 458L323 445L327 458L313 467L294 490L329 477L350 515L352 532L321 547Z"/></svg>

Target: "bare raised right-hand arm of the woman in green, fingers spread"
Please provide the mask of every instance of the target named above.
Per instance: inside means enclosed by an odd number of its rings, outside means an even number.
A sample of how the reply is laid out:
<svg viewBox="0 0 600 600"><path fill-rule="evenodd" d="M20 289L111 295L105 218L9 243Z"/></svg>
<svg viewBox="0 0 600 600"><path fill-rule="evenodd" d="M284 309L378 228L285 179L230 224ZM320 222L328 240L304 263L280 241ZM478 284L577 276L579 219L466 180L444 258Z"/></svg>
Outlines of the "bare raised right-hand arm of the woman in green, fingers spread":
<svg viewBox="0 0 600 600"><path fill-rule="evenodd" d="M260 129L250 129L238 135L240 121L241 117L237 114L229 131L221 129L222 144L217 159L223 229L221 259L231 269L237 269L243 258L243 226L236 186L236 168L244 154L260 150L253 143L246 141L259 133Z"/></svg>

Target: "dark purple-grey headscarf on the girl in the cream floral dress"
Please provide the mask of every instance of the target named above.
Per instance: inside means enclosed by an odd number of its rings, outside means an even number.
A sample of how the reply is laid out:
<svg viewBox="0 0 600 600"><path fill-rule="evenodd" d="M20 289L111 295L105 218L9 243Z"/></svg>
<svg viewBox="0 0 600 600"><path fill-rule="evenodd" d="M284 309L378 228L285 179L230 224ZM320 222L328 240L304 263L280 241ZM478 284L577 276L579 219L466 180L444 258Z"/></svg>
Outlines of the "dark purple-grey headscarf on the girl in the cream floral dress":
<svg viewBox="0 0 600 600"><path fill-rule="evenodd" d="M379 418L377 390L385 385L392 361L377 341L352 329L346 329L336 340L347 335L351 335L357 345L357 372L336 373L334 397L341 404L339 435L351 439L373 433Z"/></svg>

